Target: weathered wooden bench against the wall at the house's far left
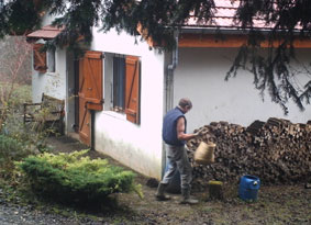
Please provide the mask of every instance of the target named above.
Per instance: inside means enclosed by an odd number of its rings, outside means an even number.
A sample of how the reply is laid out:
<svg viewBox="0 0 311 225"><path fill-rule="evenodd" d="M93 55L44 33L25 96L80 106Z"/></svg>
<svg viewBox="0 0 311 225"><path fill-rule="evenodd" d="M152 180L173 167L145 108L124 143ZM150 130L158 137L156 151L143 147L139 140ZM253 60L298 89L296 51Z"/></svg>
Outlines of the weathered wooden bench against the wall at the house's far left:
<svg viewBox="0 0 311 225"><path fill-rule="evenodd" d="M64 133L65 101L42 94L41 103L24 103L24 124L36 122Z"/></svg>

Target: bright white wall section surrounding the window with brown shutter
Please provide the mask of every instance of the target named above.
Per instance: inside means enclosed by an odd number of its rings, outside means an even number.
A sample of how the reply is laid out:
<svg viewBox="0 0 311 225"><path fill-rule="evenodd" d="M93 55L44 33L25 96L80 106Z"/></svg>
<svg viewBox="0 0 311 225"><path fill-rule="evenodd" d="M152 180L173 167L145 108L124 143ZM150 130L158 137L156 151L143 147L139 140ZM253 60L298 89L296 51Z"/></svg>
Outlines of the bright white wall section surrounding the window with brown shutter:
<svg viewBox="0 0 311 225"><path fill-rule="evenodd" d="M104 110L96 113L95 148L146 176L160 178L162 121L164 100L164 56L149 50L146 43L111 31L95 35L91 49L104 53ZM138 56L141 60L141 123L111 111L112 57Z"/></svg>

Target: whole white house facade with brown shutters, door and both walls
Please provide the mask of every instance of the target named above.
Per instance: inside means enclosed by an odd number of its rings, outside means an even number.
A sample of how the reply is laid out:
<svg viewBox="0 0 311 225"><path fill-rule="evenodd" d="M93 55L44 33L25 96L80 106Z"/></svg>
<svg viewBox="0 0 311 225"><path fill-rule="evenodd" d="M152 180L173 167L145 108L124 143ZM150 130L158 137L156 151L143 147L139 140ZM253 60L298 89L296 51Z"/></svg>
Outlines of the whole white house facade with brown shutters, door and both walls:
<svg viewBox="0 0 311 225"><path fill-rule="evenodd" d="M46 18L43 25L51 24ZM264 100L254 89L253 75L241 70L236 78L225 81L243 38L229 36L218 40L214 33L198 34L204 27L178 35L178 48L162 52L151 48L126 33L111 30L101 33L93 29L93 41L85 46L85 55L75 57L66 48L56 48L38 57L46 67L37 67L33 57L33 101L42 93L64 99L65 133L79 134L81 142L107 154L123 165L153 178L160 179L165 167L162 123L165 113L188 97L193 109L187 114L188 133L213 121L249 125L255 120L285 117L306 123L311 106L301 112L289 103L289 114L279 105ZM60 31L49 31L57 35ZM53 38L30 34L36 44ZM47 32L48 33L48 32ZM237 40L237 41L236 41ZM310 45L311 46L311 45ZM310 80L303 72L311 49L297 49L299 63L292 68L301 71L298 82Z"/></svg>

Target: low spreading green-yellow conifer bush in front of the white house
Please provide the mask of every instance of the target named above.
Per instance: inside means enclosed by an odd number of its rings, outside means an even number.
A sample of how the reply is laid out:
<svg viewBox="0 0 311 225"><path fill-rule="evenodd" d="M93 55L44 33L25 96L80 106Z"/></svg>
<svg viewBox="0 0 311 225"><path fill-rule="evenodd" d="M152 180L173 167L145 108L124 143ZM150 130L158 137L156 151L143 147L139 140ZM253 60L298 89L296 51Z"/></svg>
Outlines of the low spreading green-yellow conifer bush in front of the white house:
<svg viewBox="0 0 311 225"><path fill-rule="evenodd" d="M102 204L112 193L135 191L134 173L109 165L105 159L82 157L87 150L73 154L30 156L18 162L35 192L63 203Z"/></svg>

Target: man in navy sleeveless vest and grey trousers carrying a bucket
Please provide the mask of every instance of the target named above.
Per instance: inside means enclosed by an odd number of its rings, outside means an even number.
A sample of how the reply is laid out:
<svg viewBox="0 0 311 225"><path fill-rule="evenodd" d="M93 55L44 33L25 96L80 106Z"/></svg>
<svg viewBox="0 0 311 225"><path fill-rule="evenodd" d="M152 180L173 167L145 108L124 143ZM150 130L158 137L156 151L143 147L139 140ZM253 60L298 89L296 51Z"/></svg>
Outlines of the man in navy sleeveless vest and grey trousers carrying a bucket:
<svg viewBox="0 0 311 225"><path fill-rule="evenodd" d="M196 137L197 134L187 134L187 120L185 114L192 108L189 99L179 100L178 106L167 112L163 122L163 139L166 143L166 156L169 168L159 182L156 199L158 201L169 200L165 195L165 189L174 178L176 169L180 173L181 185L181 204L196 204L198 200L190 198L192 168L187 156L186 142Z"/></svg>

